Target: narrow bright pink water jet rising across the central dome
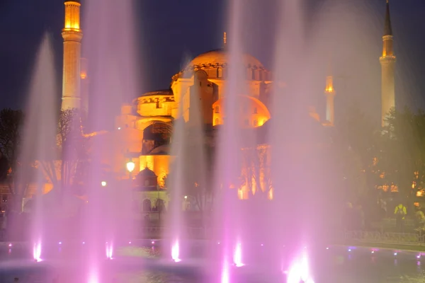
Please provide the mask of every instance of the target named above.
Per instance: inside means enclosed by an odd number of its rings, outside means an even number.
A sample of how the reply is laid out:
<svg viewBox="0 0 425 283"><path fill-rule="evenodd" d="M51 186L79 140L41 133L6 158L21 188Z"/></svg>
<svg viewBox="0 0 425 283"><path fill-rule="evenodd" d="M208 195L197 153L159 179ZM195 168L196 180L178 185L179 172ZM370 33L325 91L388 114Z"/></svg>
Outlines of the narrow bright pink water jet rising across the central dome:
<svg viewBox="0 0 425 283"><path fill-rule="evenodd" d="M227 39L226 55L228 63L227 83L224 91L223 125L218 129L217 143L217 178L215 178L215 233L220 239L221 282L227 282L230 274L230 262L234 253L239 254L242 235L240 202L237 195L240 175L239 151L241 149L241 123L238 117L242 105L242 95L246 91L244 84L244 57L242 50L242 2L232 0L229 3L229 38ZM236 249L236 250L235 250ZM238 261L240 258L236 257ZM241 262L234 262L239 264Z"/></svg>

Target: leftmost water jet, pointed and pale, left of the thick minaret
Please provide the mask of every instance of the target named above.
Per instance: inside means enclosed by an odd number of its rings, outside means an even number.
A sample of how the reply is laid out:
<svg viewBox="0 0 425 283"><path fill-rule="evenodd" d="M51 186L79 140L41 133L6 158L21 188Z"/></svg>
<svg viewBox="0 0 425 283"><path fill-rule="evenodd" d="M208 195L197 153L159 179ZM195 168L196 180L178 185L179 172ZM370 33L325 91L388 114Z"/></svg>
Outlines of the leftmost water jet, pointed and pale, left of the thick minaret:
<svg viewBox="0 0 425 283"><path fill-rule="evenodd" d="M35 184L37 192L33 197L33 222L30 239L33 245L33 256L40 260L43 240L45 239L45 224L51 216L42 203L45 178L42 174L42 163L55 158L56 152L56 91L55 68L52 46L49 35L42 38L33 70L33 80L30 85L30 95L26 106L26 118L23 127L21 151L18 160L21 168L17 175L16 187L27 186L28 175L31 174L31 164L37 164ZM53 155L52 155L53 154ZM18 188L19 190L19 188ZM23 195L21 196L23 197Z"/></svg>

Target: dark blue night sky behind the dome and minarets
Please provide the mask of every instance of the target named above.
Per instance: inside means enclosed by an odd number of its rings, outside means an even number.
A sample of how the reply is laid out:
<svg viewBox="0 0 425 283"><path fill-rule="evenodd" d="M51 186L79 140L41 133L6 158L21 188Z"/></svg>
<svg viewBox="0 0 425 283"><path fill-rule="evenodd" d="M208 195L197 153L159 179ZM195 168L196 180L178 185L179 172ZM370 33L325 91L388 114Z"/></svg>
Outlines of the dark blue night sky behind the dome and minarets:
<svg viewBox="0 0 425 283"><path fill-rule="evenodd" d="M249 18L244 30L245 50L257 57L268 69L273 69L273 52L271 52L273 48L270 47L276 44L274 34L277 1L244 0L246 17ZM84 16L84 0L81 2ZM181 69L185 59L222 47L222 32L226 29L228 18L226 0L137 0L135 2L137 15L135 25L137 40L140 42L138 66L143 76L140 94L145 91L168 88L171 76ZM306 0L306 2L306 28L314 33L314 26L319 25L321 21L317 14L325 11L326 6L321 0ZM339 83L336 79L336 89L337 91L338 87L340 89L336 105L338 107L339 103L348 103L348 94L343 96L344 93L356 92L361 93L358 94L358 99L370 100L373 105L370 109L376 109L376 102L380 96L378 57L382 49L385 0L328 0L327 4L332 2L347 2L351 7L356 7L345 13L357 17L356 21L347 24L348 29L356 30L356 32L344 38L336 35L336 38L332 39L336 42L334 46L342 46L339 44L349 46L346 48L348 52L341 55L348 58L348 63L341 64L345 66L344 68L336 67L335 76L347 76L345 74L347 64L354 66L356 62L361 62L360 67L353 67L359 75L350 75L351 79L346 79L344 83L344 89L348 88L349 91L341 91L343 83ZM423 56L425 1L390 0L390 4L397 56L397 105L422 107L425 105L425 57ZM60 86L63 18L63 0L0 0L2 27L0 108L23 108L35 52L46 31L51 33L54 41L58 86ZM364 21L358 21L358 19ZM344 16L337 21L344 21ZM332 25L338 26L339 23ZM84 26L82 28L84 31ZM357 42L365 43L363 47L355 47ZM344 48L340 47L339 50ZM340 62L342 57L336 60ZM368 76L373 78L363 83L363 89L357 90L351 87L362 85L364 79L361 78L361 74L364 71L369 72ZM322 84L318 87L318 96L320 100L324 100L322 99L324 77L317 78L317 83L318 86L319 83ZM367 91L365 91L366 88ZM60 92L58 87L58 97L61 95ZM350 96L352 98L355 95ZM338 102L338 99L343 102Z"/></svg>

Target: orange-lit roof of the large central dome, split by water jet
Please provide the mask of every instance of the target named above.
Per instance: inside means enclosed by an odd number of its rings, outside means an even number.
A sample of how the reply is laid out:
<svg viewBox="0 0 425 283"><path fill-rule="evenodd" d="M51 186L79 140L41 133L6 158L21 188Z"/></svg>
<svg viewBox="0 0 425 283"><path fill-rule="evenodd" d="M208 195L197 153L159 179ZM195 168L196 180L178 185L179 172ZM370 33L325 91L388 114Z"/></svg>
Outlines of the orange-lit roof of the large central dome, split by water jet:
<svg viewBox="0 0 425 283"><path fill-rule="evenodd" d="M243 54L244 66L245 67L262 67L263 64L256 59L256 57L251 56L250 54ZM229 61L227 57L227 52L224 49L217 49L199 54L195 59L193 59L187 67L202 66L202 65L224 65Z"/></svg>

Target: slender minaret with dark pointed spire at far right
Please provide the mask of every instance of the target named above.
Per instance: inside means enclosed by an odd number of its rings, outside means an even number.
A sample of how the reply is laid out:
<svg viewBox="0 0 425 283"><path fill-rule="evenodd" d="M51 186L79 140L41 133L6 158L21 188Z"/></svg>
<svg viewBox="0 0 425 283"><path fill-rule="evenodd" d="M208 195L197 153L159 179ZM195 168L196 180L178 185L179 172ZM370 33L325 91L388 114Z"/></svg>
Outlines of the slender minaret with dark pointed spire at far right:
<svg viewBox="0 0 425 283"><path fill-rule="evenodd" d="M395 55L392 49L392 28L390 21L390 4L387 0L387 9L385 11L385 26L384 35L382 36L383 47L382 57L379 61L382 67L382 79L381 79L381 102L382 102L382 113L381 113L381 125L385 126L385 117L391 108L395 107Z"/></svg>

